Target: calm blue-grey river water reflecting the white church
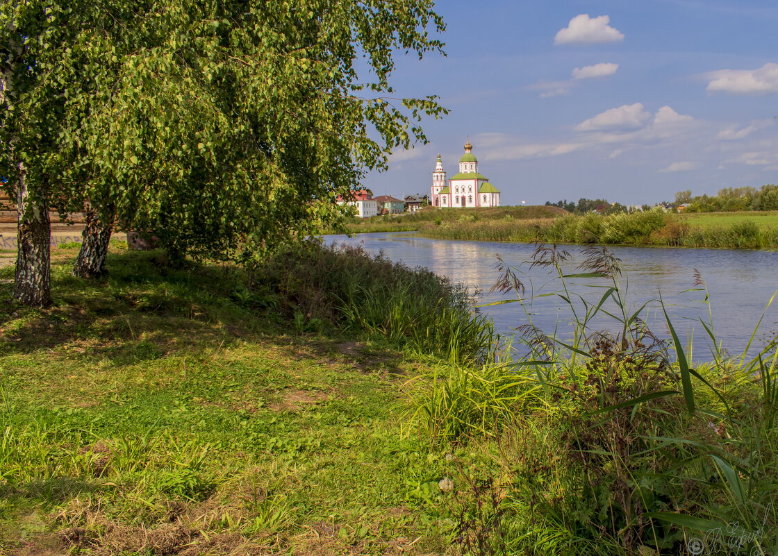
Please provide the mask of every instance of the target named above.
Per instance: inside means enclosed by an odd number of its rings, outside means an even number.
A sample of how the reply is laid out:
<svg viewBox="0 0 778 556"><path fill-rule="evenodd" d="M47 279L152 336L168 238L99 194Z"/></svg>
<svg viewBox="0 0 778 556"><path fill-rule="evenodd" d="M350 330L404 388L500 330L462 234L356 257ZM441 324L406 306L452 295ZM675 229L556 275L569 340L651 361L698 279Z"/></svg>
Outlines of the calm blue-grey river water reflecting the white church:
<svg viewBox="0 0 778 556"><path fill-rule="evenodd" d="M482 292L482 302L499 299L515 299L513 293L503 295L489 293L497 280L497 255L513 268L524 272L520 278L527 291L535 295L559 292L559 279L549 274L548 268L529 269L522 264L531 259L534 247L524 243L492 243L471 241L427 240L407 233L372 233L347 236L326 236L328 243L363 245L370 253L382 251L392 261L401 261L410 267L425 267L439 275L461 282ZM579 246L566 246L573 256L565 271L574 273L583 261ZM633 310L650 299L664 299L673 326L682 339L693 340L694 353L703 357L710 351L710 339L699 323L710 322L716 336L732 354L739 353L748 343L759 317L765 316L759 327L755 343L761 345L766 337L778 330L778 300L766 306L778 288L778 253L747 250L706 249L656 249L648 247L608 247L622 260L622 288L626 287L627 303ZM703 302L705 292L689 291L695 288L694 270L699 271L708 293L710 307ZM599 279L570 279L573 291L585 299L597 302L609 281ZM664 314L658 304L651 302L644 313L655 334L666 337L668 329ZM536 297L528 317L518 303L485 307L482 309L494 320L502 334L515 334L515 328L527 323L529 318L546 333L557 330L557 336L565 336L571 330L569 306L559 296ZM657 314L658 311L658 314ZM595 329L614 329L608 319L598 321ZM696 358L697 358L696 357Z"/></svg>

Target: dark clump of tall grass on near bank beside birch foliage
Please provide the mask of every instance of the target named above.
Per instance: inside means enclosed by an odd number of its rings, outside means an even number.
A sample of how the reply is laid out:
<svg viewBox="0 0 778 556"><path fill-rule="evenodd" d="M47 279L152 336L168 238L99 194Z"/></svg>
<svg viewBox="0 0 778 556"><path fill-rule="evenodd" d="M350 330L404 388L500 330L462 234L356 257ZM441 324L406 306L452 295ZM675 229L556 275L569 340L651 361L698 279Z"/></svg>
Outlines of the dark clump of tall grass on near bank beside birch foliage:
<svg viewBox="0 0 778 556"><path fill-rule="evenodd" d="M471 364L493 357L492 321L474 298L423 268L408 268L361 247L311 241L265 261L257 285L272 289L305 320L380 337L397 345Z"/></svg>

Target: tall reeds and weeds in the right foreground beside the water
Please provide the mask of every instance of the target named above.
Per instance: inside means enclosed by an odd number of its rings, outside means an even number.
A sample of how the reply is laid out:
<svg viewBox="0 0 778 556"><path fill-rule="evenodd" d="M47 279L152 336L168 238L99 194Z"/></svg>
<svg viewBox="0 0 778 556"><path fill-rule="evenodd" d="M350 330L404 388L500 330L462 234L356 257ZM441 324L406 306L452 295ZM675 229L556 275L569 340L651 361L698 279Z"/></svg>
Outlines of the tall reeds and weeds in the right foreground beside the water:
<svg viewBox="0 0 778 556"><path fill-rule="evenodd" d="M643 322L647 305L628 309L619 260L605 248L584 254L576 269L555 247L527 261L558 280L569 338L527 324L512 357L433 373L412 398L423 430L499 463L488 478L499 509L478 529L482 544L493 554L774 554L776 342L754 356L714 350L693 368L669 318L664 339ZM502 268L496 287L531 318L522 269ZM600 293L584 299L570 278ZM609 330L594 327L601 316Z"/></svg>

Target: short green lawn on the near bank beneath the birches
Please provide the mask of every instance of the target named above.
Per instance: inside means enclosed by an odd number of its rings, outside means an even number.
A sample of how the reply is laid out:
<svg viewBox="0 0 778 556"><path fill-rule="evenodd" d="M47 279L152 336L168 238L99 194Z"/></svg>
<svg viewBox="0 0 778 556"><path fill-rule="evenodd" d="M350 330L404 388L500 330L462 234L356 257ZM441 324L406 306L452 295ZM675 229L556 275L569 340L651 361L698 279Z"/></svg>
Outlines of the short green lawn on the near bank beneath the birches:
<svg viewBox="0 0 778 556"><path fill-rule="evenodd" d="M405 377L449 363L295 320L278 266L114 249L100 283L54 250L54 307L0 309L0 552L448 550L451 463L401 414Z"/></svg>

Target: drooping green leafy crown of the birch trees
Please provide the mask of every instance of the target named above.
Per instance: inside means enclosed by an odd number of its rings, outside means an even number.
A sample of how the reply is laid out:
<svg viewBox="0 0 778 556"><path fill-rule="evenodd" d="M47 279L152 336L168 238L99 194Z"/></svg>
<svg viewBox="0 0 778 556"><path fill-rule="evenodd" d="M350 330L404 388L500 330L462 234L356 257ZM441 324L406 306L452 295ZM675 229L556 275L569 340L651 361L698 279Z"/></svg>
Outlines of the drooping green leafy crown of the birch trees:
<svg viewBox="0 0 778 556"><path fill-rule="evenodd" d="M0 131L0 156L26 171L15 192L27 184L41 212L88 202L103 231L153 231L194 256L248 261L316 232L392 149L426 141L422 116L445 112L433 96L391 98L389 82L396 51L441 50L432 0L17 0L0 18L3 79L30 89L5 94L6 114L51 107L43 156L17 147L37 122Z"/></svg>

